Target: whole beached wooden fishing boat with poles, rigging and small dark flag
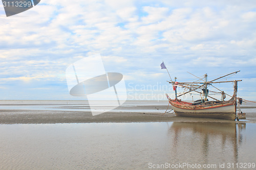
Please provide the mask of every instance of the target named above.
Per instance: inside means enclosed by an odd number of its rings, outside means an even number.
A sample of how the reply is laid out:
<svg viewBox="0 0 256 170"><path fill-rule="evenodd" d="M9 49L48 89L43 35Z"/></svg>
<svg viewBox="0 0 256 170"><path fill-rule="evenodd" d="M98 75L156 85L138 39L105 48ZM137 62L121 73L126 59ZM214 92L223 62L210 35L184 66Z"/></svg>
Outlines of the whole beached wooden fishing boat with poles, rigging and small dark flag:
<svg viewBox="0 0 256 170"><path fill-rule="evenodd" d="M175 78L175 81L167 81L173 85L173 89L175 90L175 99L170 99L168 94L166 94L166 97L177 116L218 118L218 119L228 119L228 120L245 119L245 113L243 113L239 107L242 104L243 99L237 97L238 82L242 80L221 81L221 82L216 81L226 76L237 74L237 72L239 71L232 72L228 75L219 77L211 81L207 81L207 74L204 75L204 79L197 77L198 81L196 82L177 82L177 78ZM172 78L170 79L172 80ZM232 96L229 95L231 99L225 101L224 99L228 94L218 89L213 84L230 83L230 82L233 82L234 84L233 95ZM210 91L208 89L208 86L212 86L216 88L217 90L219 90L219 92ZM188 91L183 92L177 96L177 87L184 88ZM179 96L182 96L192 91L198 93L201 96L201 99L193 102L185 102L178 99ZM221 94L221 100L213 98L212 96L209 95L209 92L215 92L215 94L216 93ZM208 100L209 98L212 100L209 101Z"/></svg>

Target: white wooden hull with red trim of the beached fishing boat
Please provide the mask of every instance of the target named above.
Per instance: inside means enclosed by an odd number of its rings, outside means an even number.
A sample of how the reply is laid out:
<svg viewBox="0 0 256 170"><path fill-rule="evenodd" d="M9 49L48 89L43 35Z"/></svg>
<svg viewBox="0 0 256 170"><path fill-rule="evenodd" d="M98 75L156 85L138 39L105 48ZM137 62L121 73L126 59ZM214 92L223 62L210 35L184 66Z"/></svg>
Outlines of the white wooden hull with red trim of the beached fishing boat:
<svg viewBox="0 0 256 170"><path fill-rule="evenodd" d="M236 101L212 105L192 105L191 103L179 102L169 98L168 101L177 116L236 119Z"/></svg>

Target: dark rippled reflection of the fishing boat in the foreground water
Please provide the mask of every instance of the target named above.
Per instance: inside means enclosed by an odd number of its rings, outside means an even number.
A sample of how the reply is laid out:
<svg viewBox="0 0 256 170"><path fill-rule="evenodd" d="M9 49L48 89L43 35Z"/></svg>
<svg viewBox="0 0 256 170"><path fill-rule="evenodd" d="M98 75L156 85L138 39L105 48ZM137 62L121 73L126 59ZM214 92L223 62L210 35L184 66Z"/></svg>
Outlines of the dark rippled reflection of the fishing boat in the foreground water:
<svg viewBox="0 0 256 170"><path fill-rule="evenodd" d="M216 164L239 163L239 149L245 140L245 123L174 122L168 135L172 162ZM244 157L244 154L242 154Z"/></svg>

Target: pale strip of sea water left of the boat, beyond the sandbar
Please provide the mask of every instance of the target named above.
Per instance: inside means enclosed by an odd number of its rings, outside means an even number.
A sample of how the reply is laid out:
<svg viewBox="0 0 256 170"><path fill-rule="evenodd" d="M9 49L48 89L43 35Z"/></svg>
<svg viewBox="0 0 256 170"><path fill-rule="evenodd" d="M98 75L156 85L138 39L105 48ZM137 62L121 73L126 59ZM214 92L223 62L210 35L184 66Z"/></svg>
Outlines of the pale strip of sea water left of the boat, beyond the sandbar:
<svg viewBox="0 0 256 170"><path fill-rule="evenodd" d="M98 110L108 109L113 106L109 101L104 104L99 103ZM160 112L164 113L168 106L167 101L126 101L112 112ZM40 111L90 111L87 101L0 101L1 110L40 110Z"/></svg>

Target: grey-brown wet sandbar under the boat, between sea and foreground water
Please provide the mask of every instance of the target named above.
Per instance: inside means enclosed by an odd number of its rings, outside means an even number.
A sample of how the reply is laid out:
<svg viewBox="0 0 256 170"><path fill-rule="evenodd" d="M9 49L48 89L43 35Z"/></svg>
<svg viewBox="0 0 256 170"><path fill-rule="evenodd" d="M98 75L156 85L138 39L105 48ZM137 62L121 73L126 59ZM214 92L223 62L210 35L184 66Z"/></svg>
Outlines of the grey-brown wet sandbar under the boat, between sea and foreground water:
<svg viewBox="0 0 256 170"><path fill-rule="evenodd" d="M256 123L256 113L246 113L246 123ZM0 124L132 123L132 122L234 122L233 120L176 116L159 112L0 111ZM244 122L241 120L239 122Z"/></svg>

